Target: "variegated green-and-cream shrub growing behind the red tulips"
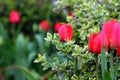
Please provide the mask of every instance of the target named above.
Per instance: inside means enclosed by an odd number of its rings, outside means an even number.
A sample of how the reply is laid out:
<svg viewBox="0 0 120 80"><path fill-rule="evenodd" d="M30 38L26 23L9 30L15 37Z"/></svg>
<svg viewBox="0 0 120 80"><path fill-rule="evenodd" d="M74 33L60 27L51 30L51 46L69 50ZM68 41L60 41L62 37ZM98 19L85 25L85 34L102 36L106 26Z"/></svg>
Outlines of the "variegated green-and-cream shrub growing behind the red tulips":
<svg viewBox="0 0 120 80"><path fill-rule="evenodd" d="M59 79L58 77L60 76L59 80L95 80L96 71L94 64L96 62L95 56L88 51L88 37L91 33L99 32L104 21L112 18L120 21L118 13L120 5L118 2L117 0L56 1L57 6L54 7L54 11L58 13L63 12L66 15L66 21L73 26L74 38L70 41L60 42L57 33L54 33L54 35L48 33L47 38L45 38L46 41L54 44L65 58L64 63L56 65L58 68L55 79ZM68 16L69 12L72 12L74 16ZM98 59L98 73L102 73L99 77L101 77L100 79L103 77L103 80L112 79L110 74L112 70L110 70L110 73L108 71L108 55L102 50L100 59ZM75 59L76 57L78 60ZM58 58L58 62L59 60ZM114 67L114 65L112 66Z"/></svg>

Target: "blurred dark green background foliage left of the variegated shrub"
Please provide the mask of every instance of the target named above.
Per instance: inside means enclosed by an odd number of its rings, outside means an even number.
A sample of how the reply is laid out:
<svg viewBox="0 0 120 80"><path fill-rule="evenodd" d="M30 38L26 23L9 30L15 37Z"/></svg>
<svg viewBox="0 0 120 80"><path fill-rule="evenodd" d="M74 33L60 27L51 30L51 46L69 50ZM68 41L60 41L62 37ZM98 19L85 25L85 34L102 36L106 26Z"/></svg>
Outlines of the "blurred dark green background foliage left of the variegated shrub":
<svg viewBox="0 0 120 80"><path fill-rule="evenodd" d="M38 53L51 59L58 52L44 40L47 32L54 33L57 21L65 22L65 15L53 12L53 7L54 0L0 0L0 80L50 78L51 69L43 71L34 60ZM18 21L10 21L12 11L19 14ZM50 24L47 31L40 29L43 20Z"/></svg>

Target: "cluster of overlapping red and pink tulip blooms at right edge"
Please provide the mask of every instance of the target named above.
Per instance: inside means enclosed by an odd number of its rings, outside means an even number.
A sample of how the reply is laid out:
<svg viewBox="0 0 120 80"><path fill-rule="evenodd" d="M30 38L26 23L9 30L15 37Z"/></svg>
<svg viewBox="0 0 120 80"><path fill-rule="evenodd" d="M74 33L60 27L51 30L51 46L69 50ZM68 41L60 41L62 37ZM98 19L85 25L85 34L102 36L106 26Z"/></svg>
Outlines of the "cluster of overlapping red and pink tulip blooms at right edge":
<svg viewBox="0 0 120 80"><path fill-rule="evenodd" d="M88 48L91 52L99 54L102 47L105 50L117 49L120 56L120 24L114 19L104 22L102 31L89 37Z"/></svg>

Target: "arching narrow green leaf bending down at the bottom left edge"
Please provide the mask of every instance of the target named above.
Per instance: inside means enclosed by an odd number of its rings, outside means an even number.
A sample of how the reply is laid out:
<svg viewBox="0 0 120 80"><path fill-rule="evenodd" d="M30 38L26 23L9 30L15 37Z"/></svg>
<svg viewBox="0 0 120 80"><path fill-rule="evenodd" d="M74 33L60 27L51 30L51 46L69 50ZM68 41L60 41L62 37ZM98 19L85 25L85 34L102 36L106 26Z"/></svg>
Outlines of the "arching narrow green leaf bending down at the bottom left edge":
<svg viewBox="0 0 120 80"><path fill-rule="evenodd" d="M37 79L33 76L33 74L32 74L29 70L27 70L26 68L24 68L24 67L22 67L22 66L18 66L18 69L19 69L21 72L23 72L23 74L25 75L25 77L26 77L27 80L37 80Z"/></svg>

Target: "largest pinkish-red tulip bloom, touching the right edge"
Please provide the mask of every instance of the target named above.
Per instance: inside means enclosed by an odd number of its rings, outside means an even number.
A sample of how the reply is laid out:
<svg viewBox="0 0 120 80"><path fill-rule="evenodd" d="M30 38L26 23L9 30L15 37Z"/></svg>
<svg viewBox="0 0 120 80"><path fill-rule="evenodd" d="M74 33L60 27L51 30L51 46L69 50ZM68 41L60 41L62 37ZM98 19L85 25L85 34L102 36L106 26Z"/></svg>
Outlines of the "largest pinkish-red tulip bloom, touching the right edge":
<svg viewBox="0 0 120 80"><path fill-rule="evenodd" d="M117 21L109 20L102 25L101 43L105 49L120 47L120 25Z"/></svg>

